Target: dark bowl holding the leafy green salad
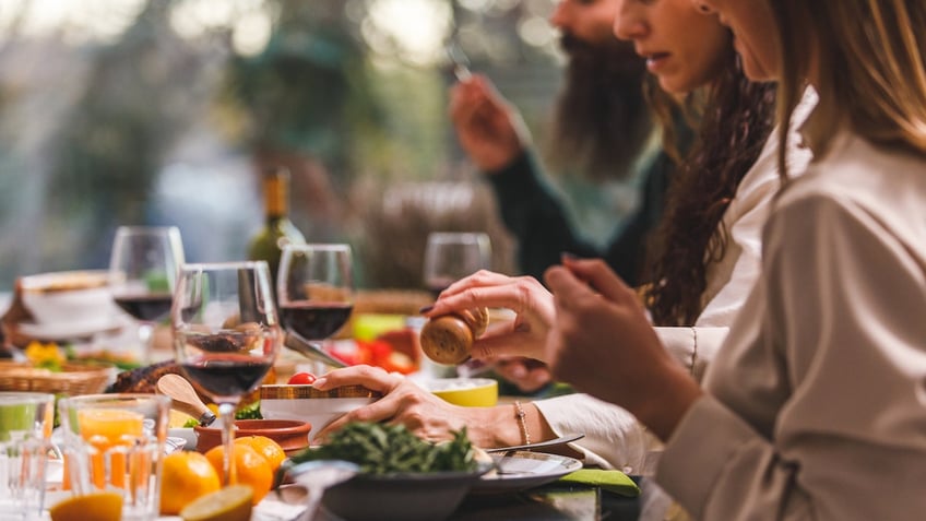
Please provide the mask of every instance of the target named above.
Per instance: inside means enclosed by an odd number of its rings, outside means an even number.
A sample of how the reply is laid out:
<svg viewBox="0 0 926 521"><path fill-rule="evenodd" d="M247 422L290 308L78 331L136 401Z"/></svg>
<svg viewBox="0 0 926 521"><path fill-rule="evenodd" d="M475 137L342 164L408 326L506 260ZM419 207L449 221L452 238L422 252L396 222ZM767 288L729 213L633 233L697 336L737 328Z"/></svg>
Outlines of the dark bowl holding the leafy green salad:
<svg viewBox="0 0 926 521"><path fill-rule="evenodd" d="M489 469L491 464L473 472L358 474L325 490L322 506L345 521L440 521Z"/></svg>

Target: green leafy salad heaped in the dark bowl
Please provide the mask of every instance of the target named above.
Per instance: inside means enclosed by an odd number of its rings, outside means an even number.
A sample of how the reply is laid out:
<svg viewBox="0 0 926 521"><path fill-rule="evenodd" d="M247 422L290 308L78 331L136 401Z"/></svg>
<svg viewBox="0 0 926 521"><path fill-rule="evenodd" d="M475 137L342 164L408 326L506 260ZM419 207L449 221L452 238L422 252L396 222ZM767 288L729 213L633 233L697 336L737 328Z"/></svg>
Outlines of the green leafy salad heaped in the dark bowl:
<svg viewBox="0 0 926 521"><path fill-rule="evenodd" d="M359 465L367 474L468 472L477 467L466 427L455 431L453 440L430 443L412 434L404 425L355 422L334 433L328 443L295 454L293 464L313 460L344 460Z"/></svg>

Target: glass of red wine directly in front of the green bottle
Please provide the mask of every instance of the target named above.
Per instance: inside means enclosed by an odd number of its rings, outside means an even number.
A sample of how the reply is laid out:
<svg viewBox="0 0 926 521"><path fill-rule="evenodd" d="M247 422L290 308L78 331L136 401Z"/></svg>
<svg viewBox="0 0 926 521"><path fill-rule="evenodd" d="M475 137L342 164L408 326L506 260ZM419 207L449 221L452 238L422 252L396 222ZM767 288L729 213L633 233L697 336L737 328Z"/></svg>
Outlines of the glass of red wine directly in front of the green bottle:
<svg viewBox="0 0 926 521"><path fill-rule="evenodd" d="M286 330L325 353L321 344L347 322L354 309L351 246L286 245L276 295Z"/></svg>

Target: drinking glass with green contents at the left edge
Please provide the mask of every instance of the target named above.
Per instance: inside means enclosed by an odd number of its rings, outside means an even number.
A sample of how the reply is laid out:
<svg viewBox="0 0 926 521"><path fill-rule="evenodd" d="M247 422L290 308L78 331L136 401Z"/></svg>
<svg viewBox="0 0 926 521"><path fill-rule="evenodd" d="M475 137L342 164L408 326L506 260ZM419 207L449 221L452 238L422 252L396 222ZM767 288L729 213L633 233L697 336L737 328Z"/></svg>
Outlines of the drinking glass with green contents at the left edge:
<svg viewBox="0 0 926 521"><path fill-rule="evenodd" d="M41 519L55 396L0 392L0 520Z"/></svg>

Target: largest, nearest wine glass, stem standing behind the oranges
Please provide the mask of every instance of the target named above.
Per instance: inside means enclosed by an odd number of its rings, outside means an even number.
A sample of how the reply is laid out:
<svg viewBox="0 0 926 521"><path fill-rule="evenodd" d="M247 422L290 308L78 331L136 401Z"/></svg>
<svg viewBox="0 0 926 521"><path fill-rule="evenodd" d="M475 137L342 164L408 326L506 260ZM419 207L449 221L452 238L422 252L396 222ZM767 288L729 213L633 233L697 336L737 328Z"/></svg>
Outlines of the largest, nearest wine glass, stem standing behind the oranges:
<svg viewBox="0 0 926 521"><path fill-rule="evenodd" d="M186 376L218 403L227 485L235 408L270 370L283 343L265 261L185 264L171 308L174 350Z"/></svg>

